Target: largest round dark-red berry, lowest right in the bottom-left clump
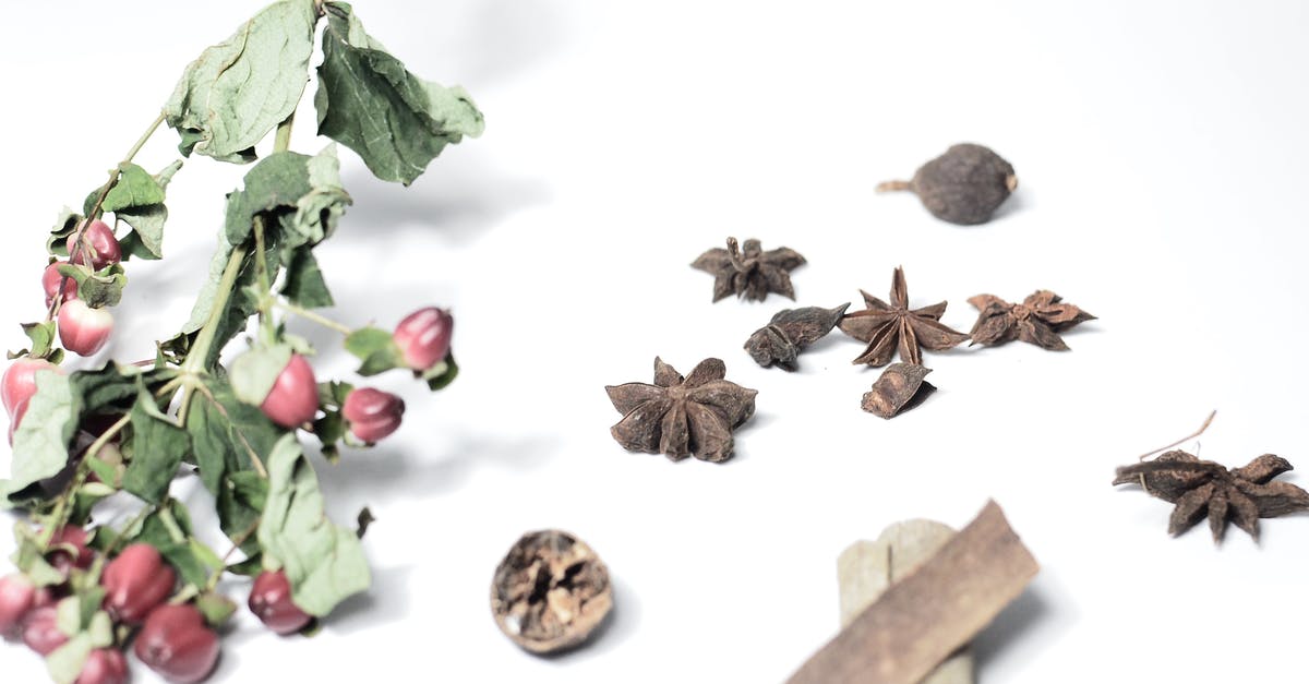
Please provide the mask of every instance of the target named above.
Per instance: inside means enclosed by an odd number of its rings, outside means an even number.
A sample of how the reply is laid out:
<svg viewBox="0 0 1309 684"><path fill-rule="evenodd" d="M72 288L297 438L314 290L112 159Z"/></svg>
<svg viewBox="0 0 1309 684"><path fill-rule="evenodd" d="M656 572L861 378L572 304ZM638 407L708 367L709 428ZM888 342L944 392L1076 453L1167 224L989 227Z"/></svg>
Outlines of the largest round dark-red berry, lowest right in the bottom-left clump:
<svg viewBox="0 0 1309 684"><path fill-rule="evenodd" d="M136 636L136 656L169 681L191 684L219 662L219 636L191 604L160 605Z"/></svg>

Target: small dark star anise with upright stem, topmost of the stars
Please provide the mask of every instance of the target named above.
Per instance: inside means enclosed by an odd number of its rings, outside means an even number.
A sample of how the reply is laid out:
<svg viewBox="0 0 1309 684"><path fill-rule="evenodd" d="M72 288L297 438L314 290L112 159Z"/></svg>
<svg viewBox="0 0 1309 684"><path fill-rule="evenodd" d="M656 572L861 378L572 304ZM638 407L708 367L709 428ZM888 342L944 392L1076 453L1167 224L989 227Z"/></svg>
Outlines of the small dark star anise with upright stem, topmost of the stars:
<svg viewBox="0 0 1309 684"><path fill-rule="evenodd" d="M713 301L728 295L763 301L768 292L796 299L789 271L804 262L793 249L764 252L758 240L746 240L742 250L736 237L729 237L726 249L713 248L700 254L691 267L713 275Z"/></svg>

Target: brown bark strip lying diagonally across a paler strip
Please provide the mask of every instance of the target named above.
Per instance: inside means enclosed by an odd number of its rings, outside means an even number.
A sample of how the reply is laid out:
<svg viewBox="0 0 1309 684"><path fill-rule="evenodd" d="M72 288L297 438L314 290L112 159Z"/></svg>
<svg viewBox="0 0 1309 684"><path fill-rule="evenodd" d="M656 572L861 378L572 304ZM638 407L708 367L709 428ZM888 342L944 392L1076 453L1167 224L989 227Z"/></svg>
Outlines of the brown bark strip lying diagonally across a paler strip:
<svg viewBox="0 0 1309 684"><path fill-rule="evenodd" d="M916 684L1037 574L994 501L792 675L788 684Z"/></svg>

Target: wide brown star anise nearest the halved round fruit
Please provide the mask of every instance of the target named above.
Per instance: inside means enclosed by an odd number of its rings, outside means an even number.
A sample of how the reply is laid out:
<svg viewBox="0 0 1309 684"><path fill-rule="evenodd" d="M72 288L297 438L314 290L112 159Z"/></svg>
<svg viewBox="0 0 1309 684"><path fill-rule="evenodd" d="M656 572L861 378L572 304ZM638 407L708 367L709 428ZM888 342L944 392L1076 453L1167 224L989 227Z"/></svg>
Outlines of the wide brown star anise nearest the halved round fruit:
<svg viewBox="0 0 1309 684"><path fill-rule="evenodd" d="M754 414L755 389L724 380L721 359L704 359L682 377L672 366L654 358L654 384L610 385L609 400L623 419L610 432L623 448L665 453L679 461L732 457L732 431Z"/></svg>

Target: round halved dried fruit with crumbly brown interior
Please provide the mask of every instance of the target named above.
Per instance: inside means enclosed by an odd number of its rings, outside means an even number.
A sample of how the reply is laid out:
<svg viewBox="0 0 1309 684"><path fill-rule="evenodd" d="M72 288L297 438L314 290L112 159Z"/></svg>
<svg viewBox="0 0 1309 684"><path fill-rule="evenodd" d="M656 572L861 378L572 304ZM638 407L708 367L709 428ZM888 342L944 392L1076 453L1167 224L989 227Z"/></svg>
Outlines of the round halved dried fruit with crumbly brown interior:
<svg viewBox="0 0 1309 684"><path fill-rule="evenodd" d="M558 529L524 535L491 583L500 632L535 654L579 646L613 607L605 563L584 541Z"/></svg>

